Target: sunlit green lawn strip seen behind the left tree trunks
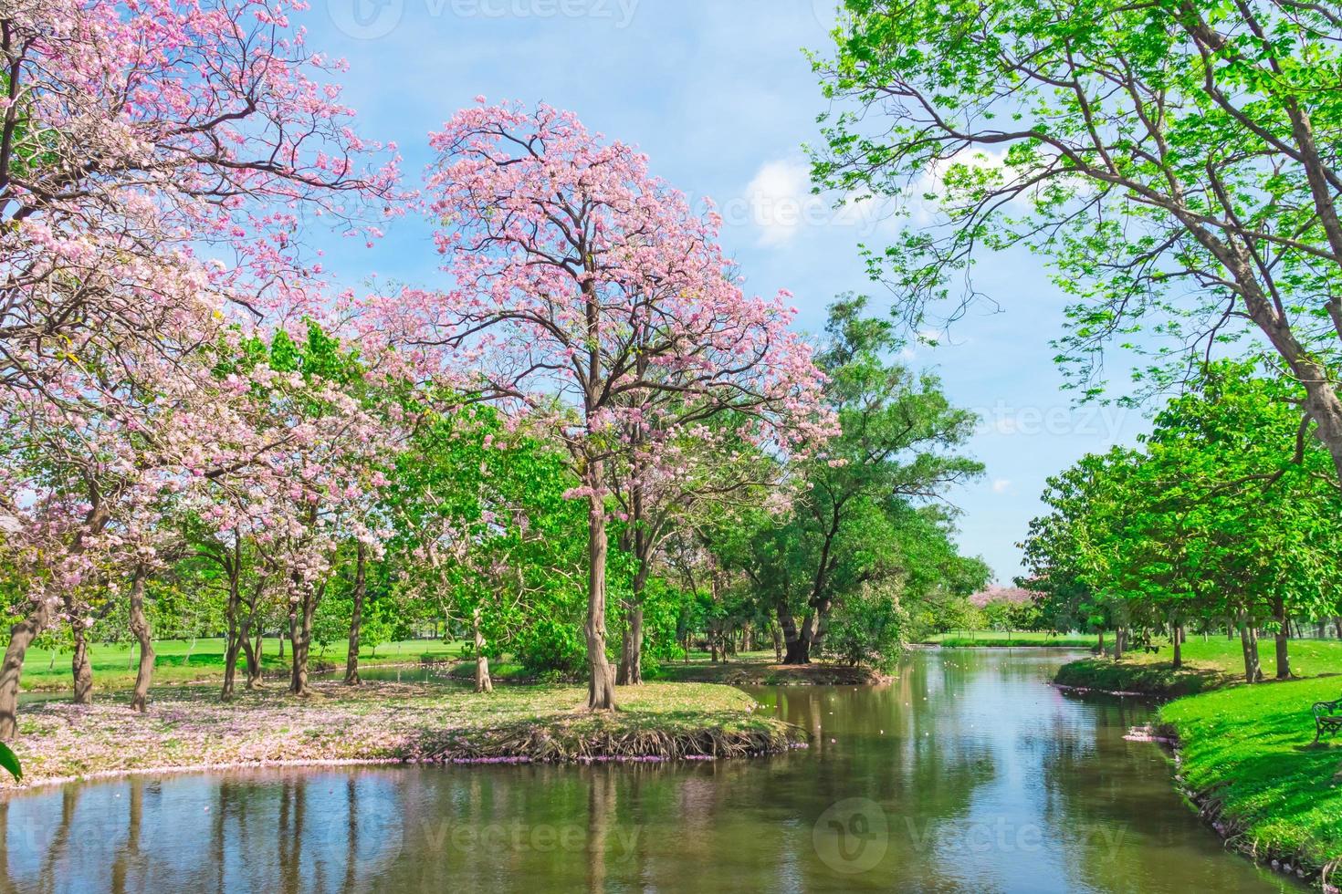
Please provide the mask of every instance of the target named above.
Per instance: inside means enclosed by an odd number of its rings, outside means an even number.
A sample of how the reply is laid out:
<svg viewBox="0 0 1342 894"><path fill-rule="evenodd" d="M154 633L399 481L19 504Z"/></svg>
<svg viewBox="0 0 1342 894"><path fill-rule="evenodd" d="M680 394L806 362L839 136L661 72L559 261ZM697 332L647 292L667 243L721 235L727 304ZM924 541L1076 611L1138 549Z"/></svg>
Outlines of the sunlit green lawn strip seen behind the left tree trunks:
<svg viewBox="0 0 1342 894"><path fill-rule="evenodd" d="M407 639L386 642L377 649L360 649L361 666L417 663L420 661L451 661L462 657L462 642L440 639ZM313 649L313 665L345 666L345 642L325 651ZM187 684L223 680L224 641L188 639L154 641L154 685ZM136 659L140 647L134 643L94 643L89 649L93 681L97 689L129 689L136 682ZM283 674L289 670L289 645L285 658L279 657L279 641L266 639L262 649L262 667L266 673ZM23 688L28 692L60 692L72 689L70 678L70 651L30 649L23 663Z"/></svg>

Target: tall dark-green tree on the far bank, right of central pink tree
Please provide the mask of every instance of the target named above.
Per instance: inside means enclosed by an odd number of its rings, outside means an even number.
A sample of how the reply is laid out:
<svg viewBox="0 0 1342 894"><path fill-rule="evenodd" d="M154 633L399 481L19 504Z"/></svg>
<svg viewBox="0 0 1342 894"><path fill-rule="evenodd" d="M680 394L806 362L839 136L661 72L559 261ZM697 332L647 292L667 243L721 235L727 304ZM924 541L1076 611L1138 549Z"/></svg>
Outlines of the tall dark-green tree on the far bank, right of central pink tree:
<svg viewBox="0 0 1342 894"><path fill-rule="evenodd" d="M863 298L831 308L817 363L841 434L790 470L805 487L788 516L780 524L756 511L709 535L726 567L774 602L788 663L823 650L831 613L849 595L962 590L984 570L958 555L950 517L931 504L982 470L957 453L974 416L950 406L934 377L892 363L892 323L864 311Z"/></svg>

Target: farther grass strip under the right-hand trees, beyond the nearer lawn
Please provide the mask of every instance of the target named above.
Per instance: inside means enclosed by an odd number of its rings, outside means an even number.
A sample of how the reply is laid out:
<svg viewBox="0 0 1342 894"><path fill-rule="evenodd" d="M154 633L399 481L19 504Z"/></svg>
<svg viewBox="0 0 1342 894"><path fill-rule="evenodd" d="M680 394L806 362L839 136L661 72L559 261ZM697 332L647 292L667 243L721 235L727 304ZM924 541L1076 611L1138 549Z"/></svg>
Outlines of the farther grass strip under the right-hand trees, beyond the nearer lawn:
<svg viewBox="0 0 1342 894"><path fill-rule="evenodd" d="M1190 696L1244 680L1244 653L1239 639L1192 637L1184 643L1184 667L1176 669L1168 642L1157 651L1135 650L1122 661L1083 658L1063 665L1055 682L1079 689L1130 692L1151 696ZM1272 643L1259 645L1263 673L1272 677ZM1342 642L1335 639L1292 639L1291 672L1296 677L1342 674Z"/></svg>

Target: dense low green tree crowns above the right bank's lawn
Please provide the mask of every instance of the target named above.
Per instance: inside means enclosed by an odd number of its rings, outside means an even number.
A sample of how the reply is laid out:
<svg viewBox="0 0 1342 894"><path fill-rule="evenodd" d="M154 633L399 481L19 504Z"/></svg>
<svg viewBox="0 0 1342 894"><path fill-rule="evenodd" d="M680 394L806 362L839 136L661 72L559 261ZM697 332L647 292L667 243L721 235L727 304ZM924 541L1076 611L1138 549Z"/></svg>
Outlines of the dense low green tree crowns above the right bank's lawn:
<svg viewBox="0 0 1342 894"><path fill-rule="evenodd" d="M1342 503L1299 393L1216 363L1157 414L1142 449L1053 477L1031 524L1029 575L1057 629L1280 626L1339 613Z"/></svg>

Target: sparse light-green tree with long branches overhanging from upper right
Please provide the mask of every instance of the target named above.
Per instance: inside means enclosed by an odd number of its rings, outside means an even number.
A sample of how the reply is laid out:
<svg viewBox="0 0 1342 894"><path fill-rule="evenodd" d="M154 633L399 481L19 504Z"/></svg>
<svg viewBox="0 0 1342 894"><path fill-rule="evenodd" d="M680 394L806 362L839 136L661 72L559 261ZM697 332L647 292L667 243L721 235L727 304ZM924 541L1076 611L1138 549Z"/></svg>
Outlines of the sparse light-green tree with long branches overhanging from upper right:
<svg viewBox="0 0 1342 894"><path fill-rule="evenodd" d="M1342 474L1342 16L1291 0L847 0L823 185L926 202L874 276L911 322L977 298L982 251L1044 255L1075 298L1062 359L1182 378L1253 334ZM953 281L968 283L964 291ZM951 290L956 290L954 292Z"/></svg>

